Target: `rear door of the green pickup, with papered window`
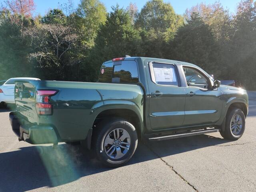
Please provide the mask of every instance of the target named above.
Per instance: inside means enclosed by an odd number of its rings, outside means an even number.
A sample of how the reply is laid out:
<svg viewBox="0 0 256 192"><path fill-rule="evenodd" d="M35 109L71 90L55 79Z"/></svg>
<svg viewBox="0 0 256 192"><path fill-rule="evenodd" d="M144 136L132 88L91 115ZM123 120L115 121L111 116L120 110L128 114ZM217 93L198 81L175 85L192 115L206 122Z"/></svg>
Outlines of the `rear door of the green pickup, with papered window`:
<svg viewBox="0 0 256 192"><path fill-rule="evenodd" d="M146 62L149 87L149 119L152 130L182 126L185 89L178 68L172 63Z"/></svg>

